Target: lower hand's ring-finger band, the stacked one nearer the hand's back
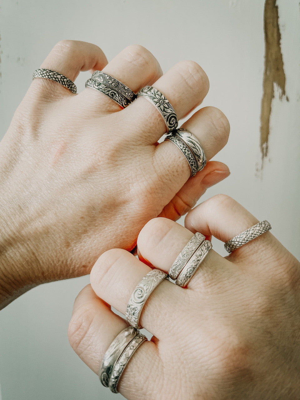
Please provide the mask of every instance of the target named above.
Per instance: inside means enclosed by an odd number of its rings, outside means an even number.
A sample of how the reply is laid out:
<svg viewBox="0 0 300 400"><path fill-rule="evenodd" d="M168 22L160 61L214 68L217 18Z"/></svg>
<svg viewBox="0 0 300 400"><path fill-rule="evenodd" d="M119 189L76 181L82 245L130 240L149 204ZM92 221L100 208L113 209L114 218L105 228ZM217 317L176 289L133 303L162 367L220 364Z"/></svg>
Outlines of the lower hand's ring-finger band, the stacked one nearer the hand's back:
<svg viewBox="0 0 300 400"><path fill-rule="evenodd" d="M207 256L209 250L212 248L212 244L209 240L204 240L200 247L194 252L190 260L186 263L183 270L178 275L176 279L176 285L184 288L190 279Z"/></svg>

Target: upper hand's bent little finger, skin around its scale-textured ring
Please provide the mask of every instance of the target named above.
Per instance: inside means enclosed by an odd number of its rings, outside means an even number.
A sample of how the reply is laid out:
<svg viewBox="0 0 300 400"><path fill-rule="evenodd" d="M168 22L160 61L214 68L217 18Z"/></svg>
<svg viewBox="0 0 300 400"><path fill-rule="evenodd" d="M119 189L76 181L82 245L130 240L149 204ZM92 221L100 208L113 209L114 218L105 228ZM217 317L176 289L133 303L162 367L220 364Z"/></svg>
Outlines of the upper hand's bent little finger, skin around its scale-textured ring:
<svg viewBox="0 0 300 400"><path fill-rule="evenodd" d="M80 71L102 69L106 64L104 53L95 44L62 40L54 46L40 68L54 70L74 81ZM57 82L44 78L34 79L32 85L42 87L46 93L50 90L58 95L71 94Z"/></svg>

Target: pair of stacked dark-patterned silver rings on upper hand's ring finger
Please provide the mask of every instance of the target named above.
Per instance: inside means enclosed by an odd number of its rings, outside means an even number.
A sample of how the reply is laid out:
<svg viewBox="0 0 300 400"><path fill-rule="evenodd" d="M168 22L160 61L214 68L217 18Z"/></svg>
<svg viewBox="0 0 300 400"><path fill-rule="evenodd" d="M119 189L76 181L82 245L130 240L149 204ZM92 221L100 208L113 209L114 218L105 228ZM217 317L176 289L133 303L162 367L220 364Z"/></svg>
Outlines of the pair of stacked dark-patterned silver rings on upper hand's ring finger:
<svg viewBox="0 0 300 400"><path fill-rule="evenodd" d="M128 86L102 71L95 71L85 86L106 94L122 108L129 106L136 98L136 94Z"/></svg>

